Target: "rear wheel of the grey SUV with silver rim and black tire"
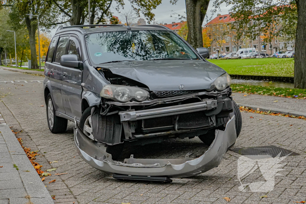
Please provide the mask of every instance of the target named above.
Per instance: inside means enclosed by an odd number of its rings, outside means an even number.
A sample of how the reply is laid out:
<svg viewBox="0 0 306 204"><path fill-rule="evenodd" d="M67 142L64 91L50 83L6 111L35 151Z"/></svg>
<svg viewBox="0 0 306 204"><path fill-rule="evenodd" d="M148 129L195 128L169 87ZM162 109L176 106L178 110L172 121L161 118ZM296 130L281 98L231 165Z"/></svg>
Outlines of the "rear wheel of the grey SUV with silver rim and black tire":
<svg viewBox="0 0 306 204"><path fill-rule="evenodd" d="M68 120L55 115L55 108L53 105L51 94L49 93L46 99L47 105L47 121L49 129L52 133L62 133L67 129Z"/></svg>

